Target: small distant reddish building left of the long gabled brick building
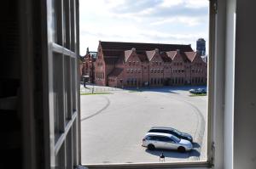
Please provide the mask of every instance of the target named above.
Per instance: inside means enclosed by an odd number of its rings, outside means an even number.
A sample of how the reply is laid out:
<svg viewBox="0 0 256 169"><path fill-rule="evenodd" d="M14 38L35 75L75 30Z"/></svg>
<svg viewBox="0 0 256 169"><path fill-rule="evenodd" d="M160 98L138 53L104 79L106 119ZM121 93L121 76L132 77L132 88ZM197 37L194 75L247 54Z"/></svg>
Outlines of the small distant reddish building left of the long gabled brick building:
<svg viewBox="0 0 256 169"><path fill-rule="evenodd" d="M89 76L87 82L94 82L94 72L95 72L95 61L97 57L97 52L90 52L87 48L86 54L82 57L82 67L81 72L82 76Z"/></svg>

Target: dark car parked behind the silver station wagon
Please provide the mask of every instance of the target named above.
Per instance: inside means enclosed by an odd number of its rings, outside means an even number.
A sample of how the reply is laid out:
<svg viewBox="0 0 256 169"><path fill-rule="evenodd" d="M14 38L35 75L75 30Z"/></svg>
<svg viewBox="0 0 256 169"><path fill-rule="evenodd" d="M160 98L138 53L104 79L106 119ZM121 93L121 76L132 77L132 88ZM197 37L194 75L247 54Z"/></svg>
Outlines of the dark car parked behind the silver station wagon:
<svg viewBox="0 0 256 169"><path fill-rule="evenodd" d="M191 143L193 143L193 138L189 133L179 132L177 129L172 127L151 127L148 132L168 133L176 136L177 138L186 139L186 140L189 140Z"/></svg>

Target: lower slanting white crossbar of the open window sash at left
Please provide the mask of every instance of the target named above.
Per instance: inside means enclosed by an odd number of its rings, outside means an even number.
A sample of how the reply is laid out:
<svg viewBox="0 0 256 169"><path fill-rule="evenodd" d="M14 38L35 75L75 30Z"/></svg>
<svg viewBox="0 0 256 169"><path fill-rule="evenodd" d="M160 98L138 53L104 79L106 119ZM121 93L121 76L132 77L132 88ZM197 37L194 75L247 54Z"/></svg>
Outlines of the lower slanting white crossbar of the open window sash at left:
<svg viewBox="0 0 256 169"><path fill-rule="evenodd" d="M69 132L70 128L73 126L73 121L75 121L77 116L78 116L78 112L76 111L73 113L72 119L67 122L67 125L65 127L65 132L61 133L60 138L58 139L58 141L55 144L55 155L57 155L59 150L61 149L61 145L63 144L63 142L65 141L65 139L67 137L67 132Z"/></svg>

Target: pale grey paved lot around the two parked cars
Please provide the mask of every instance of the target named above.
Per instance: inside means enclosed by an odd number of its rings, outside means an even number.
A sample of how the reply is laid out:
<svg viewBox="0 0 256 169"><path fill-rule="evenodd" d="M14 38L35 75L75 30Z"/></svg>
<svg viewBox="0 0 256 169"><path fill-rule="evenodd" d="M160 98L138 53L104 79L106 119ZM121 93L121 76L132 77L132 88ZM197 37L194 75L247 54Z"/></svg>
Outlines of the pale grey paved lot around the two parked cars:
<svg viewBox="0 0 256 169"><path fill-rule="evenodd" d="M118 89L109 94L82 95L82 163L158 162L162 152L166 162L206 160L207 97L189 97L188 90L188 87L151 88L142 92ZM154 126L189 132L195 140L194 149L179 153L142 147L143 136Z"/></svg>

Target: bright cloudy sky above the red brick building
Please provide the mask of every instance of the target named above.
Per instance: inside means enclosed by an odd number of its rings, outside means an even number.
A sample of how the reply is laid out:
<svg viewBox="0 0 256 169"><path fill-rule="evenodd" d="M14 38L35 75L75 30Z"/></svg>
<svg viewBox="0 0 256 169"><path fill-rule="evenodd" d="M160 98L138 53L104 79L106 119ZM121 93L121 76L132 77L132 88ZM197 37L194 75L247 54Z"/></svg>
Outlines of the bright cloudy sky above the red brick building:
<svg viewBox="0 0 256 169"><path fill-rule="evenodd" d="M208 0L80 0L80 55L99 41L208 42Z"/></svg>

